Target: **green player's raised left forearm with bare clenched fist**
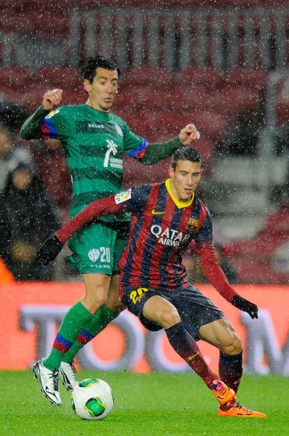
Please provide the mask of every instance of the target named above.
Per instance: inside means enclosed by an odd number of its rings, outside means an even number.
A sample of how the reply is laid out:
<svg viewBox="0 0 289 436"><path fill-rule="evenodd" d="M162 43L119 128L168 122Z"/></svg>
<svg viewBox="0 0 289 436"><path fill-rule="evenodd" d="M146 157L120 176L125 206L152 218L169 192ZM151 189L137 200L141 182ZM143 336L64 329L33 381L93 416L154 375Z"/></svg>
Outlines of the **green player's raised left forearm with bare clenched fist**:
<svg viewBox="0 0 289 436"><path fill-rule="evenodd" d="M62 94L62 90L45 92L42 106L40 106L36 112L27 118L20 129L20 136L22 139L37 139L40 137L40 125L43 123L43 119L47 113L50 113L50 111L59 106L61 103Z"/></svg>

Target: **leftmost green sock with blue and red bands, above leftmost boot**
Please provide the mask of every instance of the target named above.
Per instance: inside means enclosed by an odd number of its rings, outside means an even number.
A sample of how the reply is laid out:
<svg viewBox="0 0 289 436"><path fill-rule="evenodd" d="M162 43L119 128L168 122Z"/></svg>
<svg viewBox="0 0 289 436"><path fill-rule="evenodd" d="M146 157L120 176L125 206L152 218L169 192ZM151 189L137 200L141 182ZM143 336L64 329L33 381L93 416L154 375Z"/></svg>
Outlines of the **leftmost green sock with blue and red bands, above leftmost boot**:
<svg viewBox="0 0 289 436"><path fill-rule="evenodd" d="M81 302L77 302L68 310L57 332L52 350L43 360L45 367L50 370L59 370L65 353L71 348L84 326L93 318L94 315Z"/></svg>

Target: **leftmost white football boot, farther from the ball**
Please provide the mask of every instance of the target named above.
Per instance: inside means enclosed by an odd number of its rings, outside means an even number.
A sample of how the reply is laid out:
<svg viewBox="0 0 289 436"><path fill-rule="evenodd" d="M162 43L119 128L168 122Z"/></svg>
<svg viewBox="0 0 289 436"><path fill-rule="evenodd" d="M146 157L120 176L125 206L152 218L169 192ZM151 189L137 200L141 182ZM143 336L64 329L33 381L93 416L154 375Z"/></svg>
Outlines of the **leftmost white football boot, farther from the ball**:
<svg viewBox="0 0 289 436"><path fill-rule="evenodd" d="M61 398L59 394L59 372L49 370L43 365L43 360L38 360L33 367L35 378L40 381L41 392L52 404L61 406Z"/></svg>

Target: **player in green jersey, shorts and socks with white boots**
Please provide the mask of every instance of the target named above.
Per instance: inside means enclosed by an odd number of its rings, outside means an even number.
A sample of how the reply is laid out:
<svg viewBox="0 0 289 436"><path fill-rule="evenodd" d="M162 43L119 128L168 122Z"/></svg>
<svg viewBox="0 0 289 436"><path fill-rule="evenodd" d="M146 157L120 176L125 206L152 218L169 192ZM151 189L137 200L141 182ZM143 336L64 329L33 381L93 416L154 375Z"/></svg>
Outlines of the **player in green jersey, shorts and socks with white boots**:
<svg viewBox="0 0 289 436"><path fill-rule="evenodd" d="M119 86L119 69L109 59L90 57L83 73L85 104L59 107L62 90L52 90L20 131L23 139L58 139L64 149L73 183L71 218L91 201L121 190L123 156L153 164L189 145L200 134L193 124L165 143L149 144L110 112ZM65 386L77 384L73 358L98 335L120 310L119 257L126 245L126 214L102 217L71 237L69 265L82 275L85 295L64 316L50 354L34 365L45 396L61 405L59 372Z"/></svg>

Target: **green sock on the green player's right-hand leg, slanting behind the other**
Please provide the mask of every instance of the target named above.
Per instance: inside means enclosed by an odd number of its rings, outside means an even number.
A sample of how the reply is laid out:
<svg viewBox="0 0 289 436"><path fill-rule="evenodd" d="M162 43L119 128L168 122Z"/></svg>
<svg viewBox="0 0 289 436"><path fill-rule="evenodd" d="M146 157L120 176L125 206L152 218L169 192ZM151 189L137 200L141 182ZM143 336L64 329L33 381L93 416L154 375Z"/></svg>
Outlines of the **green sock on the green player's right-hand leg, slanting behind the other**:
<svg viewBox="0 0 289 436"><path fill-rule="evenodd" d="M100 333L114 318L117 317L117 313L108 309L108 306L104 304L96 314L94 314L94 318L85 325L85 328L80 332L80 335L77 337L76 341L73 343L71 348L67 351L65 356L63 357L64 362L71 363L75 358L76 354L82 346L90 342L91 339L94 339L98 333Z"/></svg>

